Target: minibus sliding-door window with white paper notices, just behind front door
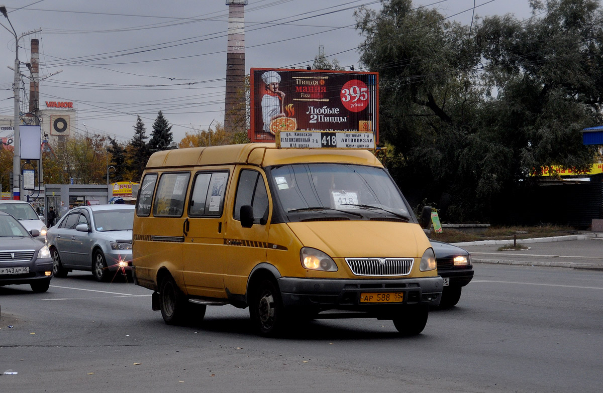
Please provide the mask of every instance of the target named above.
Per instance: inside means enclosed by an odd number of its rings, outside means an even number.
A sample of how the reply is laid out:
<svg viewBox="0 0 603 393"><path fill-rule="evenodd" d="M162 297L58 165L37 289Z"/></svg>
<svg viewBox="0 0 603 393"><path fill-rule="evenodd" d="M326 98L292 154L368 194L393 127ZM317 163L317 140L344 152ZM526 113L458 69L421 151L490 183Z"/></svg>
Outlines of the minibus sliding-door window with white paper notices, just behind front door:
<svg viewBox="0 0 603 393"><path fill-rule="evenodd" d="M227 180L228 172L202 172L195 175L189 202L189 215L221 216Z"/></svg>

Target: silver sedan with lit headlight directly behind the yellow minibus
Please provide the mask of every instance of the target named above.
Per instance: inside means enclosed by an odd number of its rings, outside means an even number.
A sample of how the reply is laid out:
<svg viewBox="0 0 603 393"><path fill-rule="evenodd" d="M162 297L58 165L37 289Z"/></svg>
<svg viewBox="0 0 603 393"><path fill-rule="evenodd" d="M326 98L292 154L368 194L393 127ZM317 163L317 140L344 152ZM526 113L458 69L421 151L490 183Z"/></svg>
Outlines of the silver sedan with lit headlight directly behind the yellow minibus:
<svg viewBox="0 0 603 393"><path fill-rule="evenodd" d="M98 281L131 274L133 205L81 206L69 210L49 228L46 244L52 274L66 277L74 270L92 271Z"/></svg>

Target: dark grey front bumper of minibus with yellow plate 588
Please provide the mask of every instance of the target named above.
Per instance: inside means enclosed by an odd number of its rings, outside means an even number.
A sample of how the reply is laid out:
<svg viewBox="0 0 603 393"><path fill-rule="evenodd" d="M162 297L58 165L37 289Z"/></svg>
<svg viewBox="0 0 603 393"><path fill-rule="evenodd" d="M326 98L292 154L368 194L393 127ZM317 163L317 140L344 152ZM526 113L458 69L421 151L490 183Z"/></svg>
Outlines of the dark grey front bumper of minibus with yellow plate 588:
<svg viewBox="0 0 603 393"><path fill-rule="evenodd" d="M371 311L409 304L440 304L441 277L324 279L281 277L283 305L292 308Z"/></svg>

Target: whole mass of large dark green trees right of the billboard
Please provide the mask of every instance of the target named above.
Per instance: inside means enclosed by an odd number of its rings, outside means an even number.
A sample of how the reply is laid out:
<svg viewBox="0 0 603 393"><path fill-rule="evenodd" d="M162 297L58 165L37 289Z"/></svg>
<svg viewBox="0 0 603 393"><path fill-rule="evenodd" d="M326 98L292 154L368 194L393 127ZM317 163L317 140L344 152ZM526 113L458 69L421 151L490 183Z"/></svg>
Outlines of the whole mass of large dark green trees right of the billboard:
<svg viewBox="0 0 603 393"><path fill-rule="evenodd" d="M510 219L534 168L593 162L579 130L598 124L601 10L531 2L535 14L449 22L410 0L361 8L361 61L379 72L380 138L411 203L449 221Z"/></svg>

